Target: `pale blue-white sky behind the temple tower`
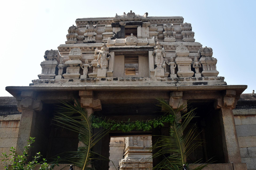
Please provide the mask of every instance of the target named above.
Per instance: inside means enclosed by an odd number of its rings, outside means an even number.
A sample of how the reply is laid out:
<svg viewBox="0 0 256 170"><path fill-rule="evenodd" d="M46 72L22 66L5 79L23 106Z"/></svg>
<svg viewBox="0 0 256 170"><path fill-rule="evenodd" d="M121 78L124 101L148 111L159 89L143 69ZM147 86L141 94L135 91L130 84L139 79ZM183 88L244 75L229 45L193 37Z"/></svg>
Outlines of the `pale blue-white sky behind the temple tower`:
<svg viewBox="0 0 256 170"><path fill-rule="evenodd" d="M38 79L44 52L65 44L77 18L114 17L132 10L148 16L182 16L196 42L213 49L218 76L228 85L256 90L256 1L2 1L0 10L0 96L6 86L28 86Z"/></svg>

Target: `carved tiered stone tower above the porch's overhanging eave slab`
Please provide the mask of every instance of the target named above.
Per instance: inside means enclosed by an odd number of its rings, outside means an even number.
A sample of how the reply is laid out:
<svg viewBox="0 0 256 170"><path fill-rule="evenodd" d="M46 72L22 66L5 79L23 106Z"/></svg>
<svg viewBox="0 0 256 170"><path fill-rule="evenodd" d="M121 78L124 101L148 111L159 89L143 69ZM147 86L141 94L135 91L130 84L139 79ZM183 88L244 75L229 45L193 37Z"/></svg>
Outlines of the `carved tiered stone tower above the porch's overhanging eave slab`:
<svg viewBox="0 0 256 170"><path fill-rule="evenodd" d="M30 86L225 85L212 48L195 42L183 17L130 11L76 20L58 50L46 50Z"/></svg>

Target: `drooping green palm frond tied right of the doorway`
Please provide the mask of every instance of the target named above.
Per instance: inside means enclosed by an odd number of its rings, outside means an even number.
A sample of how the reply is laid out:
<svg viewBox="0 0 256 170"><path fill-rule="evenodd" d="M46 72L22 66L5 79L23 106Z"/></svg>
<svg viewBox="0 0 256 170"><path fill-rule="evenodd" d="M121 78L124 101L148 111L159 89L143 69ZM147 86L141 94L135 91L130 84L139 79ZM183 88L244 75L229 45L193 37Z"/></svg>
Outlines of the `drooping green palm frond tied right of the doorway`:
<svg viewBox="0 0 256 170"><path fill-rule="evenodd" d="M161 158L163 158L153 170L183 170L183 164L186 164L189 169L191 165L188 165L186 158L194 149L202 144L202 140L198 140L199 134L196 132L197 128L195 124L184 134L184 130L195 117L194 109L187 113L180 114L184 106L173 110L165 100L158 100L160 102L159 106L162 107L167 114L172 115L174 121L170 124L170 136L159 136L157 142L152 146L152 149L158 150L152 157L161 156ZM194 168L194 170L201 170L206 165L207 164L198 166Z"/></svg>

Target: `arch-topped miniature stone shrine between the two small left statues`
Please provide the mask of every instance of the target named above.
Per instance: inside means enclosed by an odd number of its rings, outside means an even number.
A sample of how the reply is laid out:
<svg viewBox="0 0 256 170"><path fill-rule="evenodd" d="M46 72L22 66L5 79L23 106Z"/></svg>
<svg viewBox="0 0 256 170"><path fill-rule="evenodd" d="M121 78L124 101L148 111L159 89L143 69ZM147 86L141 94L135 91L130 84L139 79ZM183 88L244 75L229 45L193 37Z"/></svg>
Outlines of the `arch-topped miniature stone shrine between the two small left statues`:
<svg viewBox="0 0 256 170"><path fill-rule="evenodd" d="M80 48L73 48L70 50L68 55L69 60L65 62L66 73L62 76L64 78L79 78L80 77L80 67L82 66L83 54Z"/></svg>

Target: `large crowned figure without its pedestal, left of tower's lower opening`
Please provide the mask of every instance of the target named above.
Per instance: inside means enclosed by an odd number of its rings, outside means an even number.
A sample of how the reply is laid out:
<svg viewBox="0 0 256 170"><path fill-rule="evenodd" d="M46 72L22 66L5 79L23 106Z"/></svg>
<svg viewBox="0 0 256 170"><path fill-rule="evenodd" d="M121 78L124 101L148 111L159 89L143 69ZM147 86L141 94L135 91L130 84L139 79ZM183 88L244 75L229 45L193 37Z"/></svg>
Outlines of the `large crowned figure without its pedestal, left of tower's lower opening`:
<svg viewBox="0 0 256 170"><path fill-rule="evenodd" d="M106 69L108 68L108 60L111 57L110 53L107 51L106 43L103 43L101 51L97 59L97 68Z"/></svg>

